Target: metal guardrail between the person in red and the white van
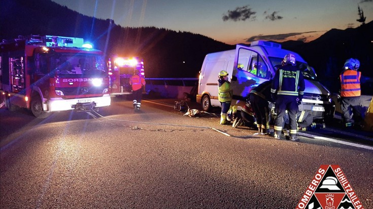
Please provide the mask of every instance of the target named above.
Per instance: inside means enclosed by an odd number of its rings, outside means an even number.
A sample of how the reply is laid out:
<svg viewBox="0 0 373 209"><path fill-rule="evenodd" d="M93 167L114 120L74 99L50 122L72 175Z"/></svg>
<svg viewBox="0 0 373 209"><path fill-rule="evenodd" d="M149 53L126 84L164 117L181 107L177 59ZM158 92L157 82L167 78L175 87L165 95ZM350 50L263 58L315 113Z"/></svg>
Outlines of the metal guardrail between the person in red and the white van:
<svg viewBox="0 0 373 209"><path fill-rule="evenodd" d="M192 86L196 86L198 84L198 78L194 78L194 77L183 77L183 78L145 78L145 80L147 81L147 85L192 87Z"/></svg>

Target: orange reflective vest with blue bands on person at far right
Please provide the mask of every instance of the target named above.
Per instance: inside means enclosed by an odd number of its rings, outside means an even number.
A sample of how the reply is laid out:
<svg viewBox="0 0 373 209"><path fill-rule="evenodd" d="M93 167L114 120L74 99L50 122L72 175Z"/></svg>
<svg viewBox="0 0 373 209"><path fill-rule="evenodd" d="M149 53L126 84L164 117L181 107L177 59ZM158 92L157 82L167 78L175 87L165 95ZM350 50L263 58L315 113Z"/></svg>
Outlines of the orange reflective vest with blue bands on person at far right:
<svg viewBox="0 0 373 209"><path fill-rule="evenodd" d="M361 95L360 76L359 71L350 69L341 73L341 97L358 97Z"/></svg>

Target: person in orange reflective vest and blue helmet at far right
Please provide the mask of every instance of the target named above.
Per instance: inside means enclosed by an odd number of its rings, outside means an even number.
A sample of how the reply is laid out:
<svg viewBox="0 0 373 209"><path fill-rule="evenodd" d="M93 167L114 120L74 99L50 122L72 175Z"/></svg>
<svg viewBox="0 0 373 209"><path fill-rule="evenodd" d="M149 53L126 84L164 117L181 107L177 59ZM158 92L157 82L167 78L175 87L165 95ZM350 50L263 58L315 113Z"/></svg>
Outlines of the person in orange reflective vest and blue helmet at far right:
<svg viewBox="0 0 373 209"><path fill-rule="evenodd" d="M350 58L346 60L343 71L339 77L341 82L341 110L345 127L352 127L354 125L360 127L362 122L360 102L361 72L357 71L359 67L359 60ZM350 109L352 109L353 117L350 114Z"/></svg>

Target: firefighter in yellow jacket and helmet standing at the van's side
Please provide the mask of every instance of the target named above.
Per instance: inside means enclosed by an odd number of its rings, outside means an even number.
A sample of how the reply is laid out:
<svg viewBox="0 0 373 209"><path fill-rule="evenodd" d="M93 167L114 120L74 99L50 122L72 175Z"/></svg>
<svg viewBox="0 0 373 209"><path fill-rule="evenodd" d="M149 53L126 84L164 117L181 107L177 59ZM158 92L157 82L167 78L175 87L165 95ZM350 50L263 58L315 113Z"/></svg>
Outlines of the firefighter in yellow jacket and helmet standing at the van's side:
<svg viewBox="0 0 373 209"><path fill-rule="evenodd" d="M227 112L232 101L232 90L230 89L230 82L228 81L228 72L222 70L219 72L219 94L218 99L221 104L220 124L228 124Z"/></svg>

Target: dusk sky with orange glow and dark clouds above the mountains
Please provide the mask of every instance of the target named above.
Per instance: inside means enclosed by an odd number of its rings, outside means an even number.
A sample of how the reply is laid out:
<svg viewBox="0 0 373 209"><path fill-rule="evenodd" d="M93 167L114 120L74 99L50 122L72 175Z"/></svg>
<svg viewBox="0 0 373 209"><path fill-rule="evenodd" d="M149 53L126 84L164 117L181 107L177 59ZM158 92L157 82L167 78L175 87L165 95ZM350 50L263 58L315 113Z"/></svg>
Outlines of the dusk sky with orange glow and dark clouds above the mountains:
<svg viewBox="0 0 373 209"><path fill-rule="evenodd" d="M52 0L122 27L154 26L206 35L227 44L267 39L311 41L326 31L373 20L373 0Z"/></svg>

